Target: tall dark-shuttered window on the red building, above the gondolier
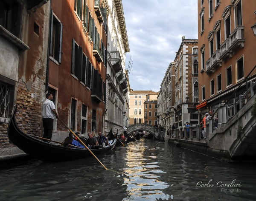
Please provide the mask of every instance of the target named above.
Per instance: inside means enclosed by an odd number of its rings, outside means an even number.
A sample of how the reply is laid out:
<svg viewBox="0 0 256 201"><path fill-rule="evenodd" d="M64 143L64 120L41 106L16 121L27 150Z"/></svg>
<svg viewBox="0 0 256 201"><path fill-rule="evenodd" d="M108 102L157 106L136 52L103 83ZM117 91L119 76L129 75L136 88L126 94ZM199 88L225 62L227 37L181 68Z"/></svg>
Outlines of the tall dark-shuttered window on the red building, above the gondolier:
<svg viewBox="0 0 256 201"><path fill-rule="evenodd" d="M52 12L50 30L50 56L59 63L61 63L62 29L62 23L57 19L57 17L55 17Z"/></svg>

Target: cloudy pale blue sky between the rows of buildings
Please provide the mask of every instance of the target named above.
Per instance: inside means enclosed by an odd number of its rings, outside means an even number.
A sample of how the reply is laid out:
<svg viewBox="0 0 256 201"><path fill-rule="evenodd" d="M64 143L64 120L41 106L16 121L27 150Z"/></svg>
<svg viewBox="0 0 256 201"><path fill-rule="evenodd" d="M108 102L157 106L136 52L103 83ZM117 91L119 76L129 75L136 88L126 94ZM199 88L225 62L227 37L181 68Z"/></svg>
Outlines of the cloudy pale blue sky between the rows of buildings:
<svg viewBox="0 0 256 201"><path fill-rule="evenodd" d="M126 53L125 68L129 67L133 91L160 91L182 37L198 39L197 2L122 0L130 47L130 52Z"/></svg>

